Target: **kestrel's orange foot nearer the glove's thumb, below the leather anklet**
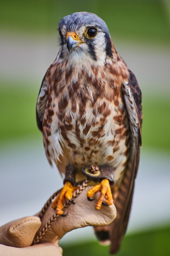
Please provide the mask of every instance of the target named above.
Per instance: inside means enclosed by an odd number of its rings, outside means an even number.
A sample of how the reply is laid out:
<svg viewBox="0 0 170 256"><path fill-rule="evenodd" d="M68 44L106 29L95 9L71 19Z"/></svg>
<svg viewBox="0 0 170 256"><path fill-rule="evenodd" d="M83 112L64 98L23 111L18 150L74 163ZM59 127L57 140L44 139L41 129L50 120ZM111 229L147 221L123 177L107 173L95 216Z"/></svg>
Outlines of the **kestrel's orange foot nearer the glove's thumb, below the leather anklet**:
<svg viewBox="0 0 170 256"><path fill-rule="evenodd" d="M72 200L72 196L74 191L76 191L78 188L79 188L78 186L73 186L69 181L65 182L62 190L60 191L60 193L57 195L57 197L51 204L51 207L55 209L58 215L63 214L65 200L69 200L71 203L74 204Z"/></svg>

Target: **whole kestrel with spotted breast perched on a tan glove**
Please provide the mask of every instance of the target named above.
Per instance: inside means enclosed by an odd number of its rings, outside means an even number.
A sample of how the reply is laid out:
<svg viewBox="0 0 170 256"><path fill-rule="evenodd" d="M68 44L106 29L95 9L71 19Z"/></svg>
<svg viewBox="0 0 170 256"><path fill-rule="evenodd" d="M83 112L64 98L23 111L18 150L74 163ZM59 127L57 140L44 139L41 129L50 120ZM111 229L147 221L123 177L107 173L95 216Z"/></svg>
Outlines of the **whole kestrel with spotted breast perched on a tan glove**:
<svg viewBox="0 0 170 256"><path fill-rule="evenodd" d="M110 241L115 254L128 225L139 164L141 91L97 15L73 13L60 20L58 30L60 50L44 76L36 106L46 157L65 175L53 207L63 214L74 182L84 180L84 166L109 166L114 184L104 178L87 197L100 191L96 209L113 202L117 208L112 224L95 227L98 239Z"/></svg>

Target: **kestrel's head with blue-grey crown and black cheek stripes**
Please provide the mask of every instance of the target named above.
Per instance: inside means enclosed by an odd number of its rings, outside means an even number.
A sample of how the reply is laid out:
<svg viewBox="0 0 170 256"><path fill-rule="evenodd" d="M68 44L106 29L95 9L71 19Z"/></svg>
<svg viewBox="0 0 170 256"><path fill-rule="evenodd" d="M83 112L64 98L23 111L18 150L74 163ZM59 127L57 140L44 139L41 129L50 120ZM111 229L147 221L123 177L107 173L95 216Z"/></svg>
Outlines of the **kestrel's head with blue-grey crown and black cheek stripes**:
<svg viewBox="0 0 170 256"><path fill-rule="evenodd" d="M104 64L112 57L113 45L106 23L96 14L77 12L60 20L60 58L83 58L85 61Z"/></svg>

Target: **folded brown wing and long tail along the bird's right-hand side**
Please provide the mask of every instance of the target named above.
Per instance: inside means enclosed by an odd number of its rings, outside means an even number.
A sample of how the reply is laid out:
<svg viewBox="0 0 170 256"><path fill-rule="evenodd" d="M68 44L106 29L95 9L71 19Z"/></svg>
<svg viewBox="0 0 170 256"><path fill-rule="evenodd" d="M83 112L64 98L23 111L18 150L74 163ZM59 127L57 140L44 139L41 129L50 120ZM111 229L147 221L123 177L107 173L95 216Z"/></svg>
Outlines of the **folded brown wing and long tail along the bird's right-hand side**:
<svg viewBox="0 0 170 256"><path fill-rule="evenodd" d="M130 156L124 178L118 189L118 196L114 202L117 208L117 218L110 227L111 254L118 252L121 240L126 233L141 146L141 91L135 75L130 70L129 74L129 83L122 85L122 94L130 124Z"/></svg>

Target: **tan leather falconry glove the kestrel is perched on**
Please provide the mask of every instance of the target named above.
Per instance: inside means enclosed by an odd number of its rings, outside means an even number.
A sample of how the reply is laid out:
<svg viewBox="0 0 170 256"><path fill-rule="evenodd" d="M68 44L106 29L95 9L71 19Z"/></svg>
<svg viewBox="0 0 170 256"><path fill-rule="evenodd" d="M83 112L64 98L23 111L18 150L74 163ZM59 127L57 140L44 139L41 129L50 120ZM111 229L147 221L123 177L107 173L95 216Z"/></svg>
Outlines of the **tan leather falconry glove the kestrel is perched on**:
<svg viewBox="0 0 170 256"><path fill-rule="evenodd" d="M62 248L58 243L68 231L86 226L104 226L113 222L116 218L114 204L102 206L96 211L96 200L89 202L86 198L89 189L90 187L86 187L75 199L75 204L70 204L65 209L64 213L67 213L65 217L59 216L53 222L38 245L31 246L38 229L41 230L55 213L51 207L47 209L42 222L37 216L31 216L11 221L0 227L0 256L61 256ZM97 193L95 196L98 199Z"/></svg>

